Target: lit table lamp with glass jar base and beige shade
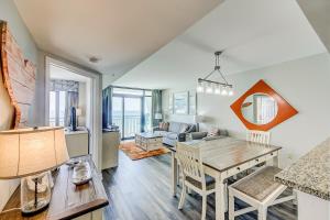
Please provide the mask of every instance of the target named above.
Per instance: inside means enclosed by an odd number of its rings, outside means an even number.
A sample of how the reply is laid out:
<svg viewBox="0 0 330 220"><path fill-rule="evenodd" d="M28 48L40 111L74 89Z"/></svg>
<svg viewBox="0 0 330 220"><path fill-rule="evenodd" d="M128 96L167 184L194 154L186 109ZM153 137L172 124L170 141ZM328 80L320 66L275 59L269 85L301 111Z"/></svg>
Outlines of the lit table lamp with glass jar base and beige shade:
<svg viewBox="0 0 330 220"><path fill-rule="evenodd" d="M51 201L47 170L69 160L63 128L0 132L0 179L21 177L21 211L33 216Z"/></svg>

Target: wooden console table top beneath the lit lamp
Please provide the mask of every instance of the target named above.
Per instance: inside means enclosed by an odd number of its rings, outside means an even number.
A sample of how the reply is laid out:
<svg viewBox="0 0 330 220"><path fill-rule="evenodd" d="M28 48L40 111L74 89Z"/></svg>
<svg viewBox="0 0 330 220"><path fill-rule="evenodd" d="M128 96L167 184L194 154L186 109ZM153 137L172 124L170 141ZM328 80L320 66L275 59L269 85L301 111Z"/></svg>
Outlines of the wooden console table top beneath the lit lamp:
<svg viewBox="0 0 330 220"><path fill-rule="evenodd" d="M22 217L21 210L14 210L0 215L0 220L73 219L108 206L107 194L91 157L88 155L77 158L89 162L92 180L75 186L70 182L73 168L62 165L55 174L51 204L45 211L28 218ZM12 195L3 211L18 207L20 207L20 187Z"/></svg>

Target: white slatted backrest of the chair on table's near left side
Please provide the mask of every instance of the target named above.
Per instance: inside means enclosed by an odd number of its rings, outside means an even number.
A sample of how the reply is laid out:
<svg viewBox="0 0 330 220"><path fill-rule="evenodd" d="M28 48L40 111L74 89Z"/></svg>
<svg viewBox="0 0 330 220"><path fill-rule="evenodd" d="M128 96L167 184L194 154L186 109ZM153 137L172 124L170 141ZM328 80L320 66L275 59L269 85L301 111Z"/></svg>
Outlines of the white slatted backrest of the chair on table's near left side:
<svg viewBox="0 0 330 220"><path fill-rule="evenodd" d="M187 146L178 142L176 156L184 176L188 176L201 183L202 189L206 189L205 173L199 148Z"/></svg>

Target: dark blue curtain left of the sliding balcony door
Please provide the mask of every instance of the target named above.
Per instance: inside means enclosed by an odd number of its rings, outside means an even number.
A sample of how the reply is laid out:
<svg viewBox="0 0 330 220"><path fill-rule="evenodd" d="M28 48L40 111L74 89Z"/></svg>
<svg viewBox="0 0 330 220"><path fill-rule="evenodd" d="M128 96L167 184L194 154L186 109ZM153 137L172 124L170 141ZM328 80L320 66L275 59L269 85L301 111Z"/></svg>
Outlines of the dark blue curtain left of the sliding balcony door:
<svg viewBox="0 0 330 220"><path fill-rule="evenodd" d="M107 87L102 91L102 128L112 124L112 87Z"/></svg>

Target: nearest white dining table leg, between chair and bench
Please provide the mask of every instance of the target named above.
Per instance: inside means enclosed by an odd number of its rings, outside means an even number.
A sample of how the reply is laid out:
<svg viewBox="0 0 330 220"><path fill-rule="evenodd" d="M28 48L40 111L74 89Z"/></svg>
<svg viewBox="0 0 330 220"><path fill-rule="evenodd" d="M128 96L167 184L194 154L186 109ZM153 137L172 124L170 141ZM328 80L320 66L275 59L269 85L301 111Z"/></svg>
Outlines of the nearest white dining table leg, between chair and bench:
<svg viewBox="0 0 330 220"><path fill-rule="evenodd" d="M223 179L218 177L216 179L216 219L217 220L224 220L224 212L226 212L226 186L223 184Z"/></svg>

